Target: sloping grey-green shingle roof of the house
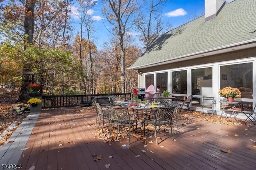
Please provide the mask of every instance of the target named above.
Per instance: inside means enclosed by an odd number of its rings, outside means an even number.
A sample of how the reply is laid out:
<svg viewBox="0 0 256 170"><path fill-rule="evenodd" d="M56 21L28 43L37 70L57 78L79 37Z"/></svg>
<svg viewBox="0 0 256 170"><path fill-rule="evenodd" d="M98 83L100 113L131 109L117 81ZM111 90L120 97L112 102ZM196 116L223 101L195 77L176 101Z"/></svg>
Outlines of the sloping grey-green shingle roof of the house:
<svg viewBox="0 0 256 170"><path fill-rule="evenodd" d="M130 68L255 39L255 11L255 0L226 4L216 18L204 21L201 16L164 33Z"/></svg>

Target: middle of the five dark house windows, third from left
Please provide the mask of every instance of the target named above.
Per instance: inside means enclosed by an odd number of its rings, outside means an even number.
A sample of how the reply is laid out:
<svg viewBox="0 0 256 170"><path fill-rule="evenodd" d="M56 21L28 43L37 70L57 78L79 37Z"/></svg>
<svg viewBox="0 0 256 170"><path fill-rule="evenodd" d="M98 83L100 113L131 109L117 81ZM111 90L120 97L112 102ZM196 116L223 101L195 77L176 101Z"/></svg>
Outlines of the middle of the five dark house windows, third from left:
<svg viewBox="0 0 256 170"><path fill-rule="evenodd" d="M172 93L187 94L187 70L172 72Z"/></svg>

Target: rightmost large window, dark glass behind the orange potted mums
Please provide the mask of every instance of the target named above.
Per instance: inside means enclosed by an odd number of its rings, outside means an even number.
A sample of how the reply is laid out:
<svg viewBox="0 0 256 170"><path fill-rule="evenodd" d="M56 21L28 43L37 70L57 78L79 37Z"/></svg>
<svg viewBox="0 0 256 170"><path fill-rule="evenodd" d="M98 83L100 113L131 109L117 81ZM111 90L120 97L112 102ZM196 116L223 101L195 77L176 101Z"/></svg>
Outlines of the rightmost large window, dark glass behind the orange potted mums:
<svg viewBox="0 0 256 170"><path fill-rule="evenodd" d="M235 87L242 98L252 99L252 63L220 66L220 89Z"/></svg>

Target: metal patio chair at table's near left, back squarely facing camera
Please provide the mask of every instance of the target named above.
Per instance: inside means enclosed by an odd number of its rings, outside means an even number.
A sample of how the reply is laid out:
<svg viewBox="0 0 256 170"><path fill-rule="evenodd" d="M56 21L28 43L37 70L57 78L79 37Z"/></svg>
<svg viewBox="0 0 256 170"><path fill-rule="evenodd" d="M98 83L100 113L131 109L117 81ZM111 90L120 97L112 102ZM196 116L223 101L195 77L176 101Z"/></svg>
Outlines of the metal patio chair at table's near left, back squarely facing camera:
<svg viewBox="0 0 256 170"><path fill-rule="evenodd" d="M120 133L120 128L123 126L127 126L129 129L128 133L128 144L130 144L130 133L131 127L134 125L134 120L130 119L130 115L128 112L128 108L126 107L112 107L107 106L108 108L108 119L109 119L109 137L111 137L112 133L112 125L116 125L118 129L118 133Z"/></svg>

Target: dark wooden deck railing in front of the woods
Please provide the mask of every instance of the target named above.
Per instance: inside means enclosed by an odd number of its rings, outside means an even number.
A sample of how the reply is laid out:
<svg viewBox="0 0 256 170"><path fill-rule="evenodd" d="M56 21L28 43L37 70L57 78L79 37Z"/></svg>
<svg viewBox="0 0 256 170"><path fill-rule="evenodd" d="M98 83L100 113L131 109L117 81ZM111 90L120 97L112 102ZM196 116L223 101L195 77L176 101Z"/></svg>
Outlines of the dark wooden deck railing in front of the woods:
<svg viewBox="0 0 256 170"><path fill-rule="evenodd" d="M85 95L43 95L42 109L58 107L92 106L94 96L118 96L131 98L131 93L112 93L112 94L85 94Z"/></svg>

